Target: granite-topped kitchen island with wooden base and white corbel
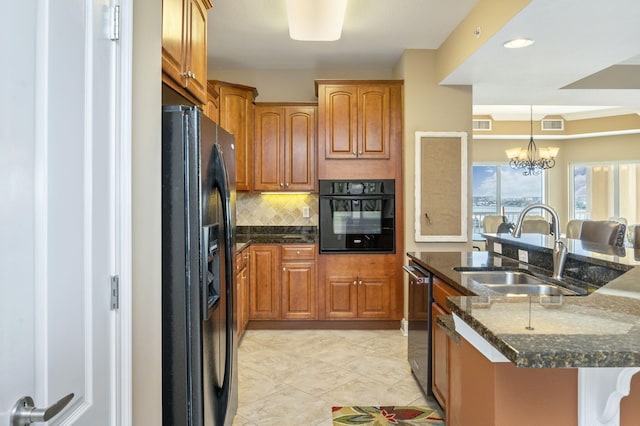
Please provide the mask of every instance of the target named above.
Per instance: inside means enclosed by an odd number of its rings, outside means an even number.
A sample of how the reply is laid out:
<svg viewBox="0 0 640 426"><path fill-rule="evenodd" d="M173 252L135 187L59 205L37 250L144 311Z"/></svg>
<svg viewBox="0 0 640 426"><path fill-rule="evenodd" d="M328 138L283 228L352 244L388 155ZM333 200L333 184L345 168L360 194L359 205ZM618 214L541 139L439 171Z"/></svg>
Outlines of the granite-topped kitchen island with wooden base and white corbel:
<svg viewBox="0 0 640 426"><path fill-rule="evenodd" d="M637 252L569 240L567 277L557 283L584 296L509 297L460 273L525 269L550 280L552 244L498 234L488 236L490 252L408 254L464 295L447 302L462 337L449 351L448 424L638 424ZM518 250L530 263L517 260Z"/></svg>

